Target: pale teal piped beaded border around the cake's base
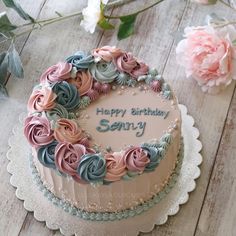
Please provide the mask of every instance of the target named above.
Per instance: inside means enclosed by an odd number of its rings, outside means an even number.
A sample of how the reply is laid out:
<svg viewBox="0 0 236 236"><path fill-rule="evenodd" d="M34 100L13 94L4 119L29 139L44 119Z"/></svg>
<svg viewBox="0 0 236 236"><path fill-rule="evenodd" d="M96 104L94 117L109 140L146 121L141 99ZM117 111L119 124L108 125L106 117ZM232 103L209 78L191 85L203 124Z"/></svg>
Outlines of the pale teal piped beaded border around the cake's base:
<svg viewBox="0 0 236 236"><path fill-rule="evenodd" d="M182 167L184 158L184 142L183 138L181 138L181 145L177 157L177 162L175 165L175 169L172 172L168 183L163 187L163 189L158 192L156 195L154 195L151 199L145 201L144 203L141 203L132 209L126 209L118 212L87 212L85 210L81 210L75 206L73 206L68 201L61 199L59 197L56 197L54 193L52 193L47 187L43 184L43 181L41 180L40 174L38 170L36 169L34 162L33 162L33 156L30 155L30 167L33 175L33 179L37 186L39 187L40 191L43 192L44 196L47 197L49 201L51 201L55 206L58 206L62 208L65 212L68 212L69 214L73 216L77 216L84 220L91 220L91 221L114 221L114 220L122 220L127 219L129 217L134 217L136 215L140 215L141 213L148 211L152 207L154 207L156 204L158 204L175 186L178 176L180 174L180 170Z"/></svg>

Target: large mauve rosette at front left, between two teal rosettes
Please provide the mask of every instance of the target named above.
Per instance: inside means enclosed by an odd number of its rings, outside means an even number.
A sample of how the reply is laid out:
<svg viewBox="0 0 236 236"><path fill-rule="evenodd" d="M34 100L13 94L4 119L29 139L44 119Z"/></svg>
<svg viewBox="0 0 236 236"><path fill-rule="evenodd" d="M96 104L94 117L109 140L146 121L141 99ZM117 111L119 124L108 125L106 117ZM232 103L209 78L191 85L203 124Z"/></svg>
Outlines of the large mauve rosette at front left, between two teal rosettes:
<svg viewBox="0 0 236 236"><path fill-rule="evenodd" d="M59 143L55 149L55 164L58 170L73 177L77 182L83 182L77 173L81 157L86 154L86 148L81 144Z"/></svg>

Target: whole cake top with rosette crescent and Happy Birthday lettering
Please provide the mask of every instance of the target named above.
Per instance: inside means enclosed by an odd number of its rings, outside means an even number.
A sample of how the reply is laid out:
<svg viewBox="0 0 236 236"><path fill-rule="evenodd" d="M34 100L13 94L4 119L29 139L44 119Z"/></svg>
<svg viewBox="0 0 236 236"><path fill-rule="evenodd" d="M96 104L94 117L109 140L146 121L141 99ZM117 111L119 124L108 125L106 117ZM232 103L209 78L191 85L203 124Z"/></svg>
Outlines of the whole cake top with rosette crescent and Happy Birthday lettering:
<svg viewBox="0 0 236 236"><path fill-rule="evenodd" d="M111 46L49 67L28 101L24 133L39 161L86 184L155 170L180 122L157 70Z"/></svg>

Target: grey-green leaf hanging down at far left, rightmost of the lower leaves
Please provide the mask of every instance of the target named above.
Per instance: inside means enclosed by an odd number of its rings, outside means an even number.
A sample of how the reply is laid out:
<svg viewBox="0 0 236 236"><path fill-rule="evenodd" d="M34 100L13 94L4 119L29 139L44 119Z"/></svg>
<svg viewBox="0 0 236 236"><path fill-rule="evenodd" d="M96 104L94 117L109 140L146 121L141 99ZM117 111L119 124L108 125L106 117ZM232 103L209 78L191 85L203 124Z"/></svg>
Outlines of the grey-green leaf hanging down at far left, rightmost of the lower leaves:
<svg viewBox="0 0 236 236"><path fill-rule="evenodd" d="M14 45L11 46L11 50L8 56L8 71L18 78L24 77L24 70L20 60L20 56L16 51Z"/></svg>

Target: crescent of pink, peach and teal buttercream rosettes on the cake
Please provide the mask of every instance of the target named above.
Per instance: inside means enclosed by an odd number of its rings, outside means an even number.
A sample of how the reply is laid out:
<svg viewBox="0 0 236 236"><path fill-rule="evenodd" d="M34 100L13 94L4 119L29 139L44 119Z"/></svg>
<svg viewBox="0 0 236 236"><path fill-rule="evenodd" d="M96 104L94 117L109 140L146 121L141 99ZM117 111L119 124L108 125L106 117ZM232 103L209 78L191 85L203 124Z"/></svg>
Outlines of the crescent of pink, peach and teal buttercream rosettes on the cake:
<svg viewBox="0 0 236 236"><path fill-rule="evenodd" d="M103 155L90 146L75 119L79 109L109 93L114 85L134 87L140 82L166 99L173 98L156 69L116 47L77 52L49 67L33 89L24 123L24 134L42 165L82 184L110 184L154 171L172 141L171 133L155 144Z"/></svg>

